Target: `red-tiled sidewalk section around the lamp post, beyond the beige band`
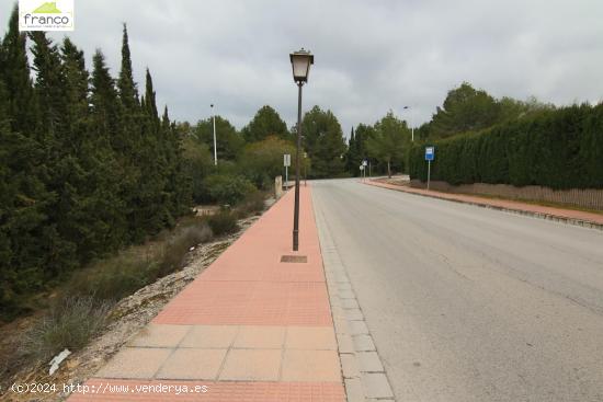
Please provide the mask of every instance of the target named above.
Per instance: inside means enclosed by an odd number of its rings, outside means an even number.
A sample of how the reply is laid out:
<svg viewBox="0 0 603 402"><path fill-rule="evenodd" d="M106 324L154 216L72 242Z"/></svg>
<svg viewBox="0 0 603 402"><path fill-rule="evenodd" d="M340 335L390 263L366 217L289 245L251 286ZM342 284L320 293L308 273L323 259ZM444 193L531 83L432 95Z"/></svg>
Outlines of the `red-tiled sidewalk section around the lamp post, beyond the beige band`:
<svg viewBox="0 0 603 402"><path fill-rule="evenodd" d="M156 324L331 325L331 311L309 189L300 198L300 250L292 254L293 192L178 295Z"/></svg>

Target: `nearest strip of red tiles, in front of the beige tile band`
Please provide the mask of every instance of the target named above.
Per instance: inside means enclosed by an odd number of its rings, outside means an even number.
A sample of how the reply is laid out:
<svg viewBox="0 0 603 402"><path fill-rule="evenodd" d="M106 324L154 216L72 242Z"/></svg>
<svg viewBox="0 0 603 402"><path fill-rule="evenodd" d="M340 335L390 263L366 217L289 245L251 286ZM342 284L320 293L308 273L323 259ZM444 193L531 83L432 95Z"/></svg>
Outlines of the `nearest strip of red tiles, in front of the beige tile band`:
<svg viewBox="0 0 603 402"><path fill-rule="evenodd" d="M132 381L91 379L86 395L73 393L70 402L80 401L203 401L203 402L343 402L341 382L202 382L202 381ZM147 386L146 389L143 387ZM180 387L180 394L174 388ZM205 393L200 392L207 387ZM162 390L160 389L162 387ZM182 392L184 387L190 392ZM196 388L196 389L195 389Z"/></svg>

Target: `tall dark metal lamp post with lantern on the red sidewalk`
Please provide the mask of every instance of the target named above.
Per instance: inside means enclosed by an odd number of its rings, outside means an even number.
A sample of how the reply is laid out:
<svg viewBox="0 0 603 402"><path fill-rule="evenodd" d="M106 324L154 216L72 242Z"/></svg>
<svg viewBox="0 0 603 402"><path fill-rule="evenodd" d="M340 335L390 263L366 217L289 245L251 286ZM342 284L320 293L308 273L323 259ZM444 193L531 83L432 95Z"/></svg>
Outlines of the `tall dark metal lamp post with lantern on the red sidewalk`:
<svg viewBox="0 0 603 402"><path fill-rule="evenodd" d="M289 54L293 80L297 83L297 149L295 151L295 209L293 213L293 251L299 250L299 149L302 148L302 87L308 82L314 56L302 48Z"/></svg>

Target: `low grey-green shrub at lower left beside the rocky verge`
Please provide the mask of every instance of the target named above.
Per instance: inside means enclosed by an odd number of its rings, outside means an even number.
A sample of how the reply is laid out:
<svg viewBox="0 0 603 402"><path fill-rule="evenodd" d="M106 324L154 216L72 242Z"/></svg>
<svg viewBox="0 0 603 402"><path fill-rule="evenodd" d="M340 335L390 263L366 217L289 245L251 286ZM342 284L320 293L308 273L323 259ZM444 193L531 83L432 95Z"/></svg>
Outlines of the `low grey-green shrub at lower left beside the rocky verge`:
<svg viewBox="0 0 603 402"><path fill-rule="evenodd" d="M22 338L18 354L46 361L65 348L78 351L107 323L111 303L92 297L70 297L55 305Z"/></svg>

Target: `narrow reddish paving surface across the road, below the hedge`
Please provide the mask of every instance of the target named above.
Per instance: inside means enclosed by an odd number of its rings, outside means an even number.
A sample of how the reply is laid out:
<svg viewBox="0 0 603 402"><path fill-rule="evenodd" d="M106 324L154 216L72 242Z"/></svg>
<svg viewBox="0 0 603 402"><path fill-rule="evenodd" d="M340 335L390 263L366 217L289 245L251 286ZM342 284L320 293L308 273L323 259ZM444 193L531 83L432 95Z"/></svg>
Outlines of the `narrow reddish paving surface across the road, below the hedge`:
<svg viewBox="0 0 603 402"><path fill-rule="evenodd" d="M574 209L547 207L544 205L526 204L526 203L511 200L511 199L493 199L493 198L479 197L475 195L442 193L442 192L434 192L432 189L428 191L422 188L412 188L408 186L400 186L400 185L379 183L379 182L366 182L366 184L374 185L377 187L397 189L406 193L426 195L434 198L456 200L456 202L468 203L468 204L478 204L483 206L512 209L517 211L544 214L544 215L549 215L558 218L584 220L593 223L603 225L602 214L585 213L585 211L574 210Z"/></svg>

